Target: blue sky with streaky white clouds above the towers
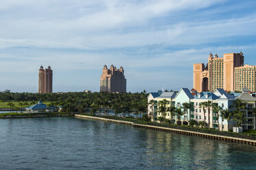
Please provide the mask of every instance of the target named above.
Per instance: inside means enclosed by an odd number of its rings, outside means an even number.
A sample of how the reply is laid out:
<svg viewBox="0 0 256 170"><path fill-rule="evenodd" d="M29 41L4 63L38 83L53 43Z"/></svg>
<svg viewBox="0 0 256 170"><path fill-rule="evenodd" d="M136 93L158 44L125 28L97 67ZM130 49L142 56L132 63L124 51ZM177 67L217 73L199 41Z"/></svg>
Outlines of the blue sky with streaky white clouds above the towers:
<svg viewBox="0 0 256 170"><path fill-rule="evenodd" d="M256 65L256 1L2 0L0 91L100 90L104 64L124 67L128 92L193 87L193 64L240 53Z"/></svg>

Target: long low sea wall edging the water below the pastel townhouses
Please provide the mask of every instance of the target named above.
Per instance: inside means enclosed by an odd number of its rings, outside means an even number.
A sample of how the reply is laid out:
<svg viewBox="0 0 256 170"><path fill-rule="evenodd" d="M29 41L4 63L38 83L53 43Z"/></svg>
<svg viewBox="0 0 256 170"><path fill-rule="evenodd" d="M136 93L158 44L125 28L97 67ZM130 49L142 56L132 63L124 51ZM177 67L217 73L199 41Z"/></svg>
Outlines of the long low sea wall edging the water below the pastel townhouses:
<svg viewBox="0 0 256 170"><path fill-rule="evenodd" d="M144 128L148 130L158 130L158 131L163 131L163 132L174 132L176 134L185 134L185 135L190 135L190 136L199 136L203 138L211 138L219 141L230 141L234 143L245 143L248 145L254 145L256 146L256 141L251 140L251 139L246 139L246 138L235 138L232 136L222 136L218 134L207 134L207 133L202 133L202 132L193 132L189 130L178 130L170 127L159 127L159 126L154 126L154 125L142 125L142 124L137 124L137 123L132 123L129 121L119 121L119 120L114 120L114 119L106 119L102 117L89 117L85 115L80 115L80 114L75 114L75 117L77 118L82 118L82 119L95 119L95 120L101 120L101 121L111 121L115 123L121 123L121 124L126 124L126 125L133 125L133 127L139 127L139 128Z"/></svg>

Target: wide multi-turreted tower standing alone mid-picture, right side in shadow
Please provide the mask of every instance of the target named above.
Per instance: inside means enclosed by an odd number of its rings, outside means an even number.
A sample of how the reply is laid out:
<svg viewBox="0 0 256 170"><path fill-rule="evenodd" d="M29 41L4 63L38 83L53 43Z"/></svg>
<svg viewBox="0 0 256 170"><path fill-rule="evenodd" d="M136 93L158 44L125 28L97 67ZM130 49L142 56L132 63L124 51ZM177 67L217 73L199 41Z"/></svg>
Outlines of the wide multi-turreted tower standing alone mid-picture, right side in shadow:
<svg viewBox="0 0 256 170"><path fill-rule="evenodd" d="M104 65L102 77L100 77L100 92L126 92L126 78L124 77L124 68L122 66L117 69L111 65L110 69L108 69Z"/></svg>

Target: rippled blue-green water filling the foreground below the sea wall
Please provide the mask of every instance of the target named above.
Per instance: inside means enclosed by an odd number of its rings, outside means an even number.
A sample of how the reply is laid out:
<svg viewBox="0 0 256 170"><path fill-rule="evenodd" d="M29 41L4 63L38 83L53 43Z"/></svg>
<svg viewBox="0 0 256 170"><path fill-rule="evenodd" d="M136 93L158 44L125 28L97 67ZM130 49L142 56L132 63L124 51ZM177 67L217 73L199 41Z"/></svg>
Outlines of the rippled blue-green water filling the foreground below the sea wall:
<svg viewBox="0 0 256 170"><path fill-rule="evenodd" d="M256 147L75 118L1 119L0 169L256 169Z"/></svg>

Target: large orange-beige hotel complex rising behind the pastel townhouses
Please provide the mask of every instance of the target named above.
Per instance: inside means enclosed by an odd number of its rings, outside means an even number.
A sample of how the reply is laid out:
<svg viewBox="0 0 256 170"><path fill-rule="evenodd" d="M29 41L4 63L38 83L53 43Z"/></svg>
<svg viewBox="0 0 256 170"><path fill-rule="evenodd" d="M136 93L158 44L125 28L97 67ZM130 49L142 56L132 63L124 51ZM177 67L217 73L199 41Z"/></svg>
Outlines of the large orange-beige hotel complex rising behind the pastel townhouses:
<svg viewBox="0 0 256 170"><path fill-rule="evenodd" d="M198 92L224 88L227 91L240 90L244 86L255 92L255 66L244 66L244 55L225 53L223 58L210 53L207 66L194 64L193 86Z"/></svg>

